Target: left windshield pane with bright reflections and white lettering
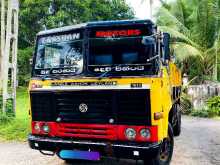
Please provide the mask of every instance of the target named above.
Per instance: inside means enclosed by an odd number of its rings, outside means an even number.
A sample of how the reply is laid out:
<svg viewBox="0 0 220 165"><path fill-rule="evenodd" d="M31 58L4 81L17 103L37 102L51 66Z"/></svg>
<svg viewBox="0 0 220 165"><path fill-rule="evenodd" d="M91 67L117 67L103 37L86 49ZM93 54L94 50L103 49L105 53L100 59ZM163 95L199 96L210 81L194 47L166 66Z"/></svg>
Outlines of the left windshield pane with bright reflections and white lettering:
<svg viewBox="0 0 220 165"><path fill-rule="evenodd" d="M77 36L70 34L38 40L35 74L80 74L82 70L82 40Z"/></svg>

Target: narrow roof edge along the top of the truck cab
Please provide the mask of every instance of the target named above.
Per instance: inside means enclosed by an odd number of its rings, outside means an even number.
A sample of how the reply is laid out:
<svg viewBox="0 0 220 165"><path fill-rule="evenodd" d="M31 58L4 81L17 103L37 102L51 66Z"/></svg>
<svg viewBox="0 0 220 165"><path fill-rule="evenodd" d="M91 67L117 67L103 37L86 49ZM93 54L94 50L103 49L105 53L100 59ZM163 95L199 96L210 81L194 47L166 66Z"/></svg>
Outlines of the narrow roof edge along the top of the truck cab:
<svg viewBox="0 0 220 165"><path fill-rule="evenodd" d="M54 28L50 30L40 31L37 35L47 35L59 32L67 32L74 29L92 28L92 27L103 27L103 26L120 26L120 25L130 25L130 24L146 24L153 26L154 23L151 20L117 20L117 21L98 21L98 22L88 22L71 26L64 26L60 28Z"/></svg>

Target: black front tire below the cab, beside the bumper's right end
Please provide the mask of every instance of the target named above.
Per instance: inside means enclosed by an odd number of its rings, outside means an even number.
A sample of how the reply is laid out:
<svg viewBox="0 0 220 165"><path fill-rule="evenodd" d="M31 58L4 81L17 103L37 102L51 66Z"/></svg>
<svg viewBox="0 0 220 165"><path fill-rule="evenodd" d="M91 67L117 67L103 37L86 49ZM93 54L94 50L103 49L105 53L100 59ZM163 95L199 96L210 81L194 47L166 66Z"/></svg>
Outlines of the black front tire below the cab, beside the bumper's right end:
<svg viewBox="0 0 220 165"><path fill-rule="evenodd" d="M160 146L159 154L152 159L144 160L144 165L169 165L173 156L174 136L171 124L168 127L168 137Z"/></svg>

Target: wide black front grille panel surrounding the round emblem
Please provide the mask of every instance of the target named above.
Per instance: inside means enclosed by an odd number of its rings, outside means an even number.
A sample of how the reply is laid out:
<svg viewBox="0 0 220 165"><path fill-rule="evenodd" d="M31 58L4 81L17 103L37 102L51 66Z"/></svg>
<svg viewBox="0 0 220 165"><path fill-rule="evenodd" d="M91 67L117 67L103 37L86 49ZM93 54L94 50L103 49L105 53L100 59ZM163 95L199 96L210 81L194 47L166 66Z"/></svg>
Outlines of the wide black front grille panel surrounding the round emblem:
<svg viewBox="0 0 220 165"><path fill-rule="evenodd" d="M92 90L44 95L31 93L34 121L55 121L59 117L64 123L150 124L149 90ZM88 106L87 112L79 110L80 104Z"/></svg>

